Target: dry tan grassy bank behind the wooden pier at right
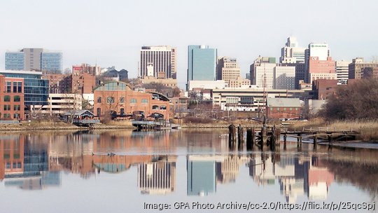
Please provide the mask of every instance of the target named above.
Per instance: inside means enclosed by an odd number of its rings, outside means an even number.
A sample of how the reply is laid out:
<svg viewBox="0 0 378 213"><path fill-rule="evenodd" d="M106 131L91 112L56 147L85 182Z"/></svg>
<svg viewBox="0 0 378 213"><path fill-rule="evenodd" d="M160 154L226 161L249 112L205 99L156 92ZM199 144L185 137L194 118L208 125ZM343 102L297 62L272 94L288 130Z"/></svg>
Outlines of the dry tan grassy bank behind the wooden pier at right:
<svg viewBox="0 0 378 213"><path fill-rule="evenodd" d="M377 120L354 120L354 121L325 121L322 118L314 118L310 121L293 121L290 130L302 128L334 128L335 130L358 131L363 141L378 140Z"/></svg>

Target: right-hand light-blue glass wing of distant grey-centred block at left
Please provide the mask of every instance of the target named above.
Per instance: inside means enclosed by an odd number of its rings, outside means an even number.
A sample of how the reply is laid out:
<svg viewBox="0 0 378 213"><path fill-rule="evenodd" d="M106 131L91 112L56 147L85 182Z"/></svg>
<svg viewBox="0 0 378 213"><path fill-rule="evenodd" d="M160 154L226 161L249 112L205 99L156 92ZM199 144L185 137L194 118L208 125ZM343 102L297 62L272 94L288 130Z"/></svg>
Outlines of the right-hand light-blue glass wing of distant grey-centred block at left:
<svg viewBox="0 0 378 213"><path fill-rule="evenodd" d="M49 71L49 73L60 74L62 72L62 53L41 53L41 71Z"/></svg>

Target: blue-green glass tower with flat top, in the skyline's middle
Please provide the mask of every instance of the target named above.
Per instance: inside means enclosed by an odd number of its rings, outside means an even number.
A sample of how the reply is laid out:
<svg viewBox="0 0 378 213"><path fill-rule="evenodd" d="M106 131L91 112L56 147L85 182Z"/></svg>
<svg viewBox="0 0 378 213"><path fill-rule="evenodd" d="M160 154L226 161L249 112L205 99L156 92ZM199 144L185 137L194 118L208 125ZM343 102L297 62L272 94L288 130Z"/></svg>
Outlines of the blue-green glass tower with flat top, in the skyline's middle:
<svg viewBox="0 0 378 213"><path fill-rule="evenodd" d="M209 46L188 46L188 81L216 79L217 50Z"/></svg>

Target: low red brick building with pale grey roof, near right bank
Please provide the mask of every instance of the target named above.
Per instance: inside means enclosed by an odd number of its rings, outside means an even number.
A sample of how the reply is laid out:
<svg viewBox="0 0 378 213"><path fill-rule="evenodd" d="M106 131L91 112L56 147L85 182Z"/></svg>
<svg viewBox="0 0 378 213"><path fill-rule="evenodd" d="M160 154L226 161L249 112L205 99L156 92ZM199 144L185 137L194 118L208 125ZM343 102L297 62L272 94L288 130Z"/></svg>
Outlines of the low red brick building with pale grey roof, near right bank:
<svg viewBox="0 0 378 213"><path fill-rule="evenodd" d="M300 119L299 98L267 98L267 118Z"/></svg>

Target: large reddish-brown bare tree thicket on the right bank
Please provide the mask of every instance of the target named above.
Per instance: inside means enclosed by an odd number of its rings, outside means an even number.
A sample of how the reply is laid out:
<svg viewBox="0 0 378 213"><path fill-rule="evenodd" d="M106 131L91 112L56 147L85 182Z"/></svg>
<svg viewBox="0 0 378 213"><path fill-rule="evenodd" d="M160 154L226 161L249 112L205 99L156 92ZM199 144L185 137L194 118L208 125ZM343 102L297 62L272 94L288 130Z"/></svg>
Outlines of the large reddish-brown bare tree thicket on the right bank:
<svg viewBox="0 0 378 213"><path fill-rule="evenodd" d="M328 120L378 118L378 79L339 86L319 115Z"/></svg>

